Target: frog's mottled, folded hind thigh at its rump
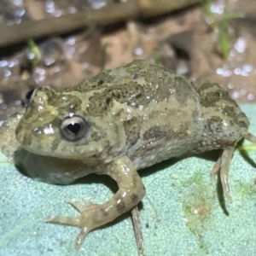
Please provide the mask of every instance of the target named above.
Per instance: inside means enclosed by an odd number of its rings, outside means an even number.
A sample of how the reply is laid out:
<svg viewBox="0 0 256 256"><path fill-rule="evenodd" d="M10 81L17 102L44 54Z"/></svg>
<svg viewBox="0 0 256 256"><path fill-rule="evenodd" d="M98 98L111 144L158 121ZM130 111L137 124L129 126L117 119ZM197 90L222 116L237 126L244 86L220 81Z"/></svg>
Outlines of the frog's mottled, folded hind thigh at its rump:
<svg viewBox="0 0 256 256"><path fill-rule="evenodd" d="M247 131L249 121L229 93L216 83L205 82L198 89L204 137L215 143L234 143Z"/></svg>

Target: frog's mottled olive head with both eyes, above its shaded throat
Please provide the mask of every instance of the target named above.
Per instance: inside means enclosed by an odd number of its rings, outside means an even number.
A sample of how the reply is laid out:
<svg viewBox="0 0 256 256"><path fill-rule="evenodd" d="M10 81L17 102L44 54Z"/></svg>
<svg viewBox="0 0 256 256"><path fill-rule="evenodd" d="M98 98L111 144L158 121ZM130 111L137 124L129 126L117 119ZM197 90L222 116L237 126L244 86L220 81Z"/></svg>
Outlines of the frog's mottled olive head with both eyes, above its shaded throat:
<svg viewBox="0 0 256 256"><path fill-rule="evenodd" d="M119 154L123 130L110 114L88 114L87 98L79 90L49 86L27 93L26 113L16 128L21 147L33 154L89 163Z"/></svg>

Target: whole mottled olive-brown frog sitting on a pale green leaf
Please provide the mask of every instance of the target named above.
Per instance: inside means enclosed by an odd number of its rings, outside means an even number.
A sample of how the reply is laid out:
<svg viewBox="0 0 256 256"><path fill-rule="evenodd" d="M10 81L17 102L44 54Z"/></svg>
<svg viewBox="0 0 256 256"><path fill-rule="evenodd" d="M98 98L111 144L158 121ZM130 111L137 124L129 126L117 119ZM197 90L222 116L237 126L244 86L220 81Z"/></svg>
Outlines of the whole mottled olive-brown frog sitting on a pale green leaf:
<svg viewBox="0 0 256 256"><path fill-rule="evenodd" d="M3 122L0 148L39 181L68 184L96 173L118 184L103 204L67 201L79 216L44 219L78 227L79 249L91 230L137 207L146 193L137 170L164 160L219 149L211 174L220 172L232 201L230 160L241 139L256 143L249 125L219 84L196 86L166 67L135 60L71 87L28 92L22 112Z"/></svg>

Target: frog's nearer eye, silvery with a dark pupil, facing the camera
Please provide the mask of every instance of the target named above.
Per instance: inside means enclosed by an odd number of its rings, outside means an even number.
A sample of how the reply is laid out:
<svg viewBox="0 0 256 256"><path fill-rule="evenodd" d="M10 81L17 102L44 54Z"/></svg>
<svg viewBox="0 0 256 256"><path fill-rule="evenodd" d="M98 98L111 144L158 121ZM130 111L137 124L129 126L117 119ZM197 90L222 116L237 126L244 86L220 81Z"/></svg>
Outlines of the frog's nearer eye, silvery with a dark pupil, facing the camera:
<svg viewBox="0 0 256 256"><path fill-rule="evenodd" d="M89 131L89 124L79 115L73 115L62 120L61 135L68 142L77 142Z"/></svg>

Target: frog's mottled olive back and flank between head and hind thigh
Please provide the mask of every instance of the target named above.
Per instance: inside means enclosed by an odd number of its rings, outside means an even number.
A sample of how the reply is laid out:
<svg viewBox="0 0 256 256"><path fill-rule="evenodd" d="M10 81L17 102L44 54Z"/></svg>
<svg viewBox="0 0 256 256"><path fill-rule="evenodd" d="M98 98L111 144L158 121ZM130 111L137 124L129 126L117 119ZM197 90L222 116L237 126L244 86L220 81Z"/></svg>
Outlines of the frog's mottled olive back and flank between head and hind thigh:
<svg viewBox="0 0 256 256"><path fill-rule="evenodd" d="M137 168L194 146L201 131L201 110L189 80L159 65L132 61L84 83L76 87L86 95L86 113L99 118L111 115L113 122L122 122L125 154Z"/></svg>

